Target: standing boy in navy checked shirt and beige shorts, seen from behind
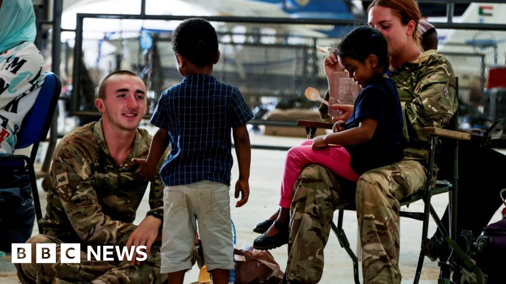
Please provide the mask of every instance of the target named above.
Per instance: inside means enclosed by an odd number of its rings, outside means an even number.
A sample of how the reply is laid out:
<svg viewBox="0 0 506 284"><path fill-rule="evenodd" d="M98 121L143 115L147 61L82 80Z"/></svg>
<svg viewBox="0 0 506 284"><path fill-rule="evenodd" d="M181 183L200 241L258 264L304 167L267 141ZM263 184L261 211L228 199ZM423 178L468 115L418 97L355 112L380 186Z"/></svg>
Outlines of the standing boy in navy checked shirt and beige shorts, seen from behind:
<svg viewBox="0 0 506 284"><path fill-rule="evenodd" d="M171 284L182 284L191 268L196 219L207 270L216 284L228 282L234 268L229 187L232 168L232 130L239 164L236 207L249 195L251 149L246 122L253 114L239 89L213 77L220 59L218 37L209 22L183 21L172 35L183 81L166 89L151 123L153 136L140 174L156 175L156 163L167 148L171 153L160 170L165 184L161 272Z"/></svg>

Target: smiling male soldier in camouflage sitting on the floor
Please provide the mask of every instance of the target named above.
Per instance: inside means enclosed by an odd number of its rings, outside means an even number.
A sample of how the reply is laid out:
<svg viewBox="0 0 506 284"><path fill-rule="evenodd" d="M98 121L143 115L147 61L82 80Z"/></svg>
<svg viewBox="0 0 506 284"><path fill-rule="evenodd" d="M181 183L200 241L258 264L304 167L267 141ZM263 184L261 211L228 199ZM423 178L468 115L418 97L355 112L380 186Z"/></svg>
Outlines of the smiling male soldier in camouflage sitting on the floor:
<svg viewBox="0 0 506 284"><path fill-rule="evenodd" d="M102 119L74 129L58 144L51 169L44 234L35 235L32 263L16 264L22 283L162 283L160 248L155 241L163 218L163 184L151 182L150 209L132 222L148 181L137 176L132 158L145 158L151 141L138 128L146 112L146 86L130 71L107 76L95 101ZM56 264L35 263L38 243L56 244ZM80 264L60 263L60 244L80 243ZM88 261L87 246L146 246L146 261L134 250L132 261ZM113 255L116 248L113 250Z"/></svg>

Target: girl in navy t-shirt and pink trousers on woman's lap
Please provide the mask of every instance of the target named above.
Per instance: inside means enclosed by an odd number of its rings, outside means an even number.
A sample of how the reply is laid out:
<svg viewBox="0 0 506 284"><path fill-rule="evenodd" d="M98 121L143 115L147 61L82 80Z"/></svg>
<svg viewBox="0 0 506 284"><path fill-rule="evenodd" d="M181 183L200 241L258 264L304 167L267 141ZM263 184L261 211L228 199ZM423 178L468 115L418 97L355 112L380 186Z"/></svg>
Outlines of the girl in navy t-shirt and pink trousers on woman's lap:
<svg viewBox="0 0 506 284"><path fill-rule="evenodd" d="M263 222L272 225L255 240L256 249L273 249L288 242L293 185L306 166L321 164L356 182L360 174L404 157L399 94L395 82L384 76L389 67L387 40L373 28L358 27L341 41L336 54L348 76L362 87L355 109L348 122L334 124L334 133L306 140L288 151L281 208L276 220Z"/></svg>

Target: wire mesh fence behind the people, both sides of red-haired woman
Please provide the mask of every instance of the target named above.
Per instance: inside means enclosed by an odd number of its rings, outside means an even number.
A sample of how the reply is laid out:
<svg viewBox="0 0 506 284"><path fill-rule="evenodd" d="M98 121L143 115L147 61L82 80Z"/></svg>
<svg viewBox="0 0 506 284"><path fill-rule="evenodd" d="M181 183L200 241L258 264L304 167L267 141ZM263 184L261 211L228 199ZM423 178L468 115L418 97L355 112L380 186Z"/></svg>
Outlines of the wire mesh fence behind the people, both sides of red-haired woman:
<svg viewBox="0 0 506 284"><path fill-rule="evenodd" d="M149 116L161 92L182 79L171 45L172 31L182 18L110 17L78 15L74 113L95 112L94 97L100 81L112 71L127 69L146 82ZM326 55L317 52L315 45L330 45L353 27L364 24L345 20L308 23L297 19L237 19L209 18L218 33L221 52L213 75L238 86L249 106L260 114L257 119L266 110L316 108L318 103L303 96L309 86L319 89L322 95L327 89L323 72ZM490 70L505 65L506 31L438 29L438 34L438 50L448 57L459 77L462 124L486 127L494 119L505 117L506 92L490 89L487 83Z"/></svg>

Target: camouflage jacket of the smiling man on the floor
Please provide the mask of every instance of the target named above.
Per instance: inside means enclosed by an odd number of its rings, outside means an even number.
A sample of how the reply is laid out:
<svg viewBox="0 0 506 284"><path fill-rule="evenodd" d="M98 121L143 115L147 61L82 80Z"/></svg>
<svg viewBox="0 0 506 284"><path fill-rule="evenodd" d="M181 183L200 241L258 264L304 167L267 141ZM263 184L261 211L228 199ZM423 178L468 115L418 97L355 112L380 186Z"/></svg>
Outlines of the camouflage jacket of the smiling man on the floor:
<svg viewBox="0 0 506 284"><path fill-rule="evenodd" d="M117 166L102 132L102 121L74 129L56 147L51 168L44 233L64 242L117 245L128 241L147 181L132 158L145 158L151 136L137 129L132 152ZM148 211L163 216L163 184L151 183Z"/></svg>

